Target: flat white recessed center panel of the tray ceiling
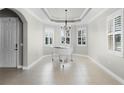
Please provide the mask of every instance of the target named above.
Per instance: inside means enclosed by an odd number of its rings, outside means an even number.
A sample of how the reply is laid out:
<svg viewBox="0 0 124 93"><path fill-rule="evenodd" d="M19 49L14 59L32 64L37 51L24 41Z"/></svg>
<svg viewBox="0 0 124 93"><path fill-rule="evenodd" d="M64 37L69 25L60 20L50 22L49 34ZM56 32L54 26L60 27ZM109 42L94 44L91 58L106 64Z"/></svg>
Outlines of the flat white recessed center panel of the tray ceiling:
<svg viewBox="0 0 124 93"><path fill-rule="evenodd" d="M47 8L47 14L56 20L65 20L65 9L67 9L67 19L79 19L85 8Z"/></svg>

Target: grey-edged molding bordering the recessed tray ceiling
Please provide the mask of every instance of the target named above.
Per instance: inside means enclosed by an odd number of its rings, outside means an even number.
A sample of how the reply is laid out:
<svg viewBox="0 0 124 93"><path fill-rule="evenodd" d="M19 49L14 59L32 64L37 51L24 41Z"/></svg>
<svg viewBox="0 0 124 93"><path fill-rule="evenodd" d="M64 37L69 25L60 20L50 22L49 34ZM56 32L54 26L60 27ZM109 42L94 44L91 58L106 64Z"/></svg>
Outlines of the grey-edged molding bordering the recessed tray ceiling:
<svg viewBox="0 0 124 93"><path fill-rule="evenodd" d="M47 18L48 18L50 21L52 21L52 22L59 22L59 23L65 22L65 20L58 20L58 19L54 19L54 18L52 18L51 16L49 16L47 9L45 9L45 8L41 8L41 9L42 9L42 11L44 12L44 14L47 16ZM80 18L77 18L77 19L74 19L74 20L67 20L67 21L70 22L70 23L81 22L81 21L85 18L85 16L90 12L90 10L91 10L91 8L87 8L87 9L81 14Z"/></svg>

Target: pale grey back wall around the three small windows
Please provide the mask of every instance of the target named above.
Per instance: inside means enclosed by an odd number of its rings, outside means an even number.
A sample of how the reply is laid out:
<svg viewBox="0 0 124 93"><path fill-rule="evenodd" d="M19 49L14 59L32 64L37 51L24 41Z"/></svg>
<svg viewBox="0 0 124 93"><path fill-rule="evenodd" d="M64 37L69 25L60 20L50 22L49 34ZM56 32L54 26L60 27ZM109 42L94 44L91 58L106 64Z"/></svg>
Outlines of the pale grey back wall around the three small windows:
<svg viewBox="0 0 124 93"><path fill-rule="evenodd" d="M45 25L45 28L53 28L54 29L54 45L55 46L60 46L61 45L61 30L60 30L60 26L51 26L51 25ZM71 45L74 48L73 53L74 54L81 54L81 55L87 55L87 46L77 46L77 26L76 25L72 25L72 29L71 29ZM45 31L45 30L44 30ZM49 46L45 46L43 47L43 54L44 55L49 55L52 53L52 47Z"/></svg>

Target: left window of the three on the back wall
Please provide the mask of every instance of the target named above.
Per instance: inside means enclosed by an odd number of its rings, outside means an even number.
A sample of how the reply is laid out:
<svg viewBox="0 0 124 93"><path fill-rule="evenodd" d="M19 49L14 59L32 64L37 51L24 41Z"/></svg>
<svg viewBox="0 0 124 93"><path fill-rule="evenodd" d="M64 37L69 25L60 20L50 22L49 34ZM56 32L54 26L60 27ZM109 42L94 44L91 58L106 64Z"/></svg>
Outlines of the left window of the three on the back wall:
<svg viewBox="0 0 124 93"><path fill-rule="evenodd" d="M45 29L45 45L51 46L53 45L53 29L52 28L46 28Z"/></svg>

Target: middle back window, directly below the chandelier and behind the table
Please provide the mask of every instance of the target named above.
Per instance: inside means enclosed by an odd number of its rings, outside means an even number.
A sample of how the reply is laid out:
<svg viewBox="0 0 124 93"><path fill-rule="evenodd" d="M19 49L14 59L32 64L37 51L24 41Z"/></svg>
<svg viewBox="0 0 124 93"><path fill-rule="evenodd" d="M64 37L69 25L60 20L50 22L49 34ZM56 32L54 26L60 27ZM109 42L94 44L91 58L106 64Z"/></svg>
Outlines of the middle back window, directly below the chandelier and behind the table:
<svg viewBox="0 0 124 93"><path fill-rule="evenodd" d="M70 45L71 43L71 30L61 30L61 44Z"/></svg>

